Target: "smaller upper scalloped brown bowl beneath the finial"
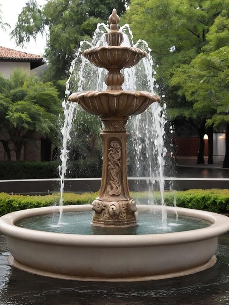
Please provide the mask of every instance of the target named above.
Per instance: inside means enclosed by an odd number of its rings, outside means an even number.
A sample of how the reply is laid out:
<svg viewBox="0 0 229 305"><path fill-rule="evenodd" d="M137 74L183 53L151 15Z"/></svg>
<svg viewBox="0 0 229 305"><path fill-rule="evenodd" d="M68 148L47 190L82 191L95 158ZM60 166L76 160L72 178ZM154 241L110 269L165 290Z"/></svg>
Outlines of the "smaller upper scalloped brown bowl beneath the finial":
<svg viewBox="0 0 229 305"><path fill-rule="evenodd" d="M134 47L104 46L87 49L83 56L96 67L109 70L112 67L133 67L141 58L148 55L147 52Z"/></svg>

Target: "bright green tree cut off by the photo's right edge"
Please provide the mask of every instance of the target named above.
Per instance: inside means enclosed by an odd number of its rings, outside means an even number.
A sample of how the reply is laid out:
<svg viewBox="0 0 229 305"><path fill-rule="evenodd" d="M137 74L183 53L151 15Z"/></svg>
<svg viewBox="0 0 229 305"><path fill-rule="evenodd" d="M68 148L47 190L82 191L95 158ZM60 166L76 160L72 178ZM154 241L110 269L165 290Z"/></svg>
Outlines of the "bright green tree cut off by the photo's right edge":
<svg viewBox="0 0 229 305"><path fill-rule="evenodd" d="M223 10L206 35L207 44L190 64L183 64L170 83L178 85L193 109L206 119L207 131L229 123L229 13ZM226 128L228 130L228 128ZM226 147L228 147L226 136ZM223 167L229 167L226 150Z"/></svg>

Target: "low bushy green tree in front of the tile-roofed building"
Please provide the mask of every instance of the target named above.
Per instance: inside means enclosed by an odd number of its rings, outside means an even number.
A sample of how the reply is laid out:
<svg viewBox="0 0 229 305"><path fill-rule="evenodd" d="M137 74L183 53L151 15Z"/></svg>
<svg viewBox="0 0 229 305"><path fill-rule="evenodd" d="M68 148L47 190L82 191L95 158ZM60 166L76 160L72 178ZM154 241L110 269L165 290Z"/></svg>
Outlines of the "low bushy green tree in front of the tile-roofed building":
<svg viewBox="0 0 229 305"><path fill-rule="evenodd" d="M0 141L8 160L11 160L9 143L13 143L19 161L21 149L33 132L55 140L60 100L51 83L42 83L22 70L15 70L5 82L10 90L6 94L0 89Z"/></svg>

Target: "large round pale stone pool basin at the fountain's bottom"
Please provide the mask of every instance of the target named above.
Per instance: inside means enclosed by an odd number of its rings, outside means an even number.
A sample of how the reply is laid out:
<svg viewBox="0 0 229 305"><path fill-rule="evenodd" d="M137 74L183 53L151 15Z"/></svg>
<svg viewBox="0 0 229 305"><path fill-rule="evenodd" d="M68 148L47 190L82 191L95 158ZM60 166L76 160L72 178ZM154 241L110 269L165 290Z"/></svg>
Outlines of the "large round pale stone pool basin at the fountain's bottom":
<svg viewBox="0 0 229 305"><path fill-rule="evenodd" d="M137 208L139 213L152 210L148 205ZM63 207L63 212L84 210L91 210L91 206ZM200 210L172 207L166 207L166 210L203 219L211 225L203 229L148 235L51 233L15 225L27 217L58 211L58 207L46 207L0 217L0 232L7 235L11 265L54 278L144 281L187 275L213 266L217 236L229 230L229 218Z"/></svg>

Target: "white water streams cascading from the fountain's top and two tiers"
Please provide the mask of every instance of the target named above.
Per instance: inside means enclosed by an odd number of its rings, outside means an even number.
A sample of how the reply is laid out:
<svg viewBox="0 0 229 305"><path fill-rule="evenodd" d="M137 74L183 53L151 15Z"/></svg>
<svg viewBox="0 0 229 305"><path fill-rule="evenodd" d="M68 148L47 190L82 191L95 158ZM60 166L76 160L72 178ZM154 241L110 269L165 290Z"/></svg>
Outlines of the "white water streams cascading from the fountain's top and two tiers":
<svg viewBox="0 0 229 305"><path fill-rule="evenodd" d="M64 178L67 169L68 150L67 145L70 140L70 131L72 128L73 118L76 115L76 103L68 103L68 96L73 92L87 91L87 90L105 90L106 84L104 76L107 71L92 65L82 53L85 49L107 45L105 40L105 33L108 27L101 23L98 24L95 30L92 42L82 41L80 47L76 52L75 59L72 61L70 68L70 76L66 83L66 97L63 102L65 121L62 129L62 150L61 150L61 166L60 173L60 218L62 215L63 204L63 189ZM120 28L123 32L124 41L122 46L134 46L143 49L148 53L148 57L140 60L134 67L130 69L123 69L121 72L125 77L123 90L131 91L148 91L153 93L154 78L153 78L153 60L150 56L150 49L148 44L143 40L138 40L134 45L133 35L129 25L124 25ZM137 102L137 101L136 101ZM150 105L150 107L143 114L133 116L130 120L131 136L134 143L134 155L136 160L136 174L140 175L142 166L150 169L148 172L149 184L150 181L157 179L159 181L161 204L164 206L164 156L166 148L164 146L165 138L165 108L157 102ZM145 152L143 152L145 150ZM144 153L144 156L142 155ZM146 165L147 163L147 165ZM152 183L151 183L152 184ZM166 211L162 209L162 224L166 228Z"/></svg>

